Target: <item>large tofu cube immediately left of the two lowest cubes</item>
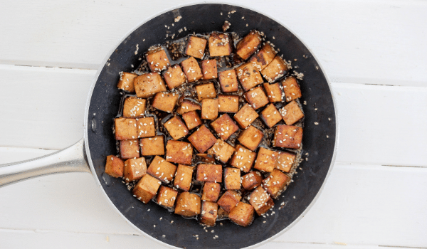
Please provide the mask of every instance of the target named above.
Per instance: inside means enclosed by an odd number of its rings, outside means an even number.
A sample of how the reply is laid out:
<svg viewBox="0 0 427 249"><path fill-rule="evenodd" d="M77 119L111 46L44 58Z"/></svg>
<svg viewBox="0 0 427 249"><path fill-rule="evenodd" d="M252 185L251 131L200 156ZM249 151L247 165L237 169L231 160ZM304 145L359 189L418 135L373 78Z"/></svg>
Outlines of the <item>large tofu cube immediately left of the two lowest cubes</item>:
<svg viewBox="0 0 427 249"><path fill-rule="evenodd" d="M182 192L176 198L175 213L180 216L192 217L200 214L200 196L189 192Z"/></svg>

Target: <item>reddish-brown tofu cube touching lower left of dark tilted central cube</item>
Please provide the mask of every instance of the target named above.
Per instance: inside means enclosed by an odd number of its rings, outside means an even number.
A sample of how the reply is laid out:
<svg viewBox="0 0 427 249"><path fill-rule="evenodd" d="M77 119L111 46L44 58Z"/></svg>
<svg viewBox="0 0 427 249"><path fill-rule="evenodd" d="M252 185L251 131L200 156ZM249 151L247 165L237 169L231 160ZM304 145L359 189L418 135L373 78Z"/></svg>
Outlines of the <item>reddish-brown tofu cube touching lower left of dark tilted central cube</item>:
<svg viewBox="0 0 427 249"><path fill-rule="evenodd" d="M169 140L166 144L166 160L177 164L191 164L193 147L181 141Z"/></svg>

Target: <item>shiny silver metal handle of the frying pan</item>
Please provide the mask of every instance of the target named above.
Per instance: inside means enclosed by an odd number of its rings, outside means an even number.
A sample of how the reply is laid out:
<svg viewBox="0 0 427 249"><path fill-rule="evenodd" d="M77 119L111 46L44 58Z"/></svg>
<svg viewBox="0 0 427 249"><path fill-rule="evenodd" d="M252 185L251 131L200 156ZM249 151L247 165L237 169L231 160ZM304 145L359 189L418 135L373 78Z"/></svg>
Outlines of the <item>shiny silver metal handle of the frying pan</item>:
<svg viewBox="0 0 427 249"><path fill-rule="evenodd" d="M90 172L85 139L58 152L11 164L0 164L0 187L36 176L65 172Z"/></svg>

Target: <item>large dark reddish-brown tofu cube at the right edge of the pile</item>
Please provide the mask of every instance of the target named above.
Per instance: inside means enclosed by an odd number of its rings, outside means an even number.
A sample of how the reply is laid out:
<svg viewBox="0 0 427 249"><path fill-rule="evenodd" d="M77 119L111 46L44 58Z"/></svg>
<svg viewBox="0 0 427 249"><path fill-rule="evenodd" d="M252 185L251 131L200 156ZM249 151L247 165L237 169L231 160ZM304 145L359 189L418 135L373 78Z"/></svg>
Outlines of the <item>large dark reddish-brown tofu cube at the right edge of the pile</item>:
<svg viewBox="0 0 427 249"><path fill-rule="evenodd" d="M274 147L300 149L301 142L301 127L285 124L276 126L272 141Z"/></svg>

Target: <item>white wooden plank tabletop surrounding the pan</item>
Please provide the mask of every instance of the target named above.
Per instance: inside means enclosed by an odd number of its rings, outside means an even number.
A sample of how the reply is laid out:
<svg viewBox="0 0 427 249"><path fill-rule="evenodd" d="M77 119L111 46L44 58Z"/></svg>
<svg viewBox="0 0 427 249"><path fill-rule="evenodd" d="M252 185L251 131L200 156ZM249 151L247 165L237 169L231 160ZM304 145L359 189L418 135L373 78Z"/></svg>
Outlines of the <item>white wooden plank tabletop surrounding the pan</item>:
<svg viewBox="0 0 427 249"><path fill-rule="evenodd" d="M427 2L228 1L284 23L332 81L337 161L302 220L261 248L427 248ZM183 0L1 1L0 164L83 136L97 68L131 28ZM90 174L0 189L0 248L162 248Z"/></svg>

